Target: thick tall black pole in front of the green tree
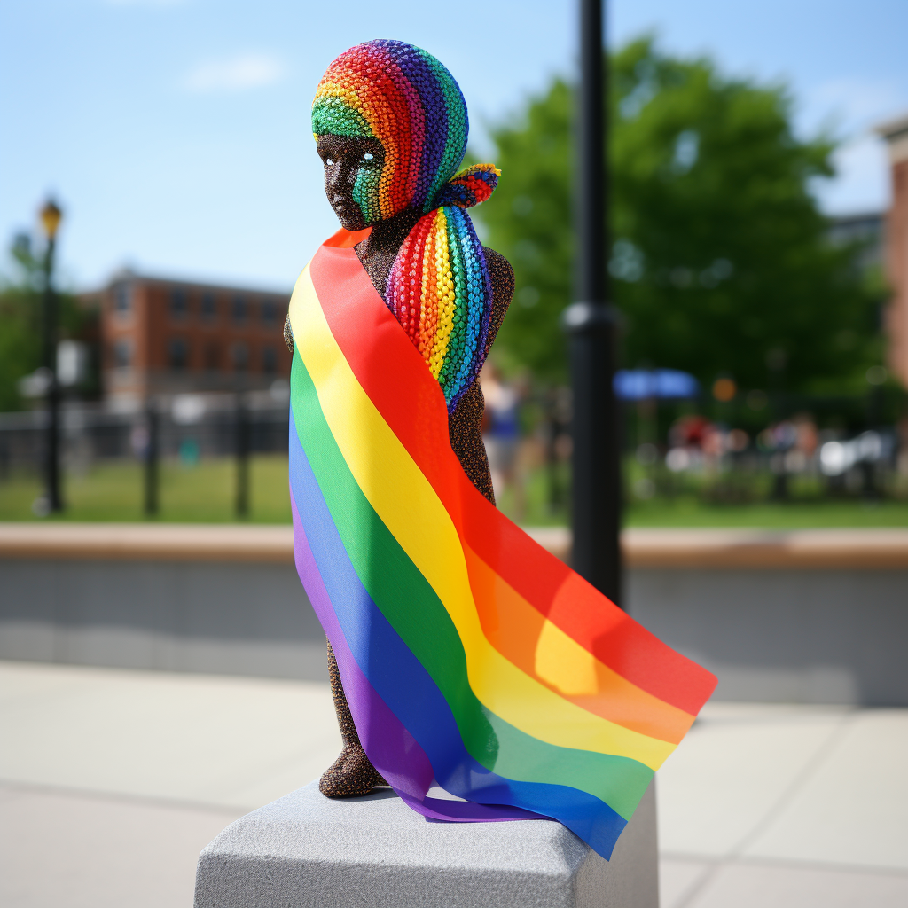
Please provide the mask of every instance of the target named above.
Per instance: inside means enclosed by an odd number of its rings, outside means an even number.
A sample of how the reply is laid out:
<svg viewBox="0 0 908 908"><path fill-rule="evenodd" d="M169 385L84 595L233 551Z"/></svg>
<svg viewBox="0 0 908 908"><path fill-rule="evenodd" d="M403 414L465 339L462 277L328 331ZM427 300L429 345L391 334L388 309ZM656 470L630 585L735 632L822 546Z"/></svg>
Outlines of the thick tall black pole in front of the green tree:
<svg viewBox="0 0 908 908"><path fill-rule="evenodd" d="M580 0L577 96L577 302L570 335L574 441L572 564L621 604L621 496L615 375L616 320L608 302L608 183L603 0Z"/></svg>

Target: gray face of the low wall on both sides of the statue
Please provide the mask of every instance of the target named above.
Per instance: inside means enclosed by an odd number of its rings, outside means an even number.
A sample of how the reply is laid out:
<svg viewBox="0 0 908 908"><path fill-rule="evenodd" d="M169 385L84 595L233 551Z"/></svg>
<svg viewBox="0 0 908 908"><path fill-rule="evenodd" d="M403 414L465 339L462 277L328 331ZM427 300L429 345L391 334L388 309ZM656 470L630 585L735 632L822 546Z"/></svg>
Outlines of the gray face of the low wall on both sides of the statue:
<svg viewBox="0 0 908 908"><path fill-rule="evenodd" d="M637 567L627 599L719 699L908 705L908 569ZM287 563L0 558L0 658L327 678Z"/></svg>

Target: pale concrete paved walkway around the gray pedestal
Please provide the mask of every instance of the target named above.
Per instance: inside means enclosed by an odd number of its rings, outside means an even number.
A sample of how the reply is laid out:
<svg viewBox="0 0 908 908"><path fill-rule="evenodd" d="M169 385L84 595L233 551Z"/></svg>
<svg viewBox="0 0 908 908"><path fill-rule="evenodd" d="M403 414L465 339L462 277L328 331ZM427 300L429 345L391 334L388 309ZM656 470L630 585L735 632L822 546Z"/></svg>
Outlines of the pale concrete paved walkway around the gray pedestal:
<svg viewBox="0 0 908 908"><path fill-rule="evenodd" d="M192 904L340 749L325 685L0 662L0 904ZM908 710L708 705L658 775L663 908L908 904Z"/></svg>

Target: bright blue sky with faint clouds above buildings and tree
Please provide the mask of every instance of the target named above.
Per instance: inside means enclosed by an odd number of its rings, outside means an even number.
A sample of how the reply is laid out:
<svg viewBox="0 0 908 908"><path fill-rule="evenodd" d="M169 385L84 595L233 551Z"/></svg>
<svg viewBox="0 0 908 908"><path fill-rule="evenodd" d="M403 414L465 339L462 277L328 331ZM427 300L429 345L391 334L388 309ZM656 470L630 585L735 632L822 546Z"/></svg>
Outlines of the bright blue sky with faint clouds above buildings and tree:
<svg viewBox="0 0 908 908"><path fill-rule="evenodd" d="M54 192L73 287L131 264L288 289L336 226L308 123L334 56L372 37L427 48L459 80L484 151L484 123L571 73L575 22L573 0L4 0L0 242ZM645 31L726 73L785 79L805 134L833 124L847 141L818 190L826 210L888 202L870 128L908 111L905 0L609 4L610 44Z"/></svg>

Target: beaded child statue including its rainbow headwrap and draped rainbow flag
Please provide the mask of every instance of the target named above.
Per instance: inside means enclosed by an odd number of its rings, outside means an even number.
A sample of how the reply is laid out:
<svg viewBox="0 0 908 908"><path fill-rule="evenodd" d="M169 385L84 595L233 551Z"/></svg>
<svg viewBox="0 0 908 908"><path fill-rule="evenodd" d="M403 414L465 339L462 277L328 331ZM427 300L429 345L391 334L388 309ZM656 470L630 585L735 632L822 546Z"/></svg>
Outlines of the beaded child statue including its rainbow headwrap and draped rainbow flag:
<svg viewBox="0 0 908 908"><path fill-rule="evenodd" d="M608 858L716 678L495 508L478 376L514 278L469 219L498 171L459 169L468 128L448 70L400 41L341 54L312 104L342 229L284 336L294 556L343 740L319 787L545 816Z"/></svg>

